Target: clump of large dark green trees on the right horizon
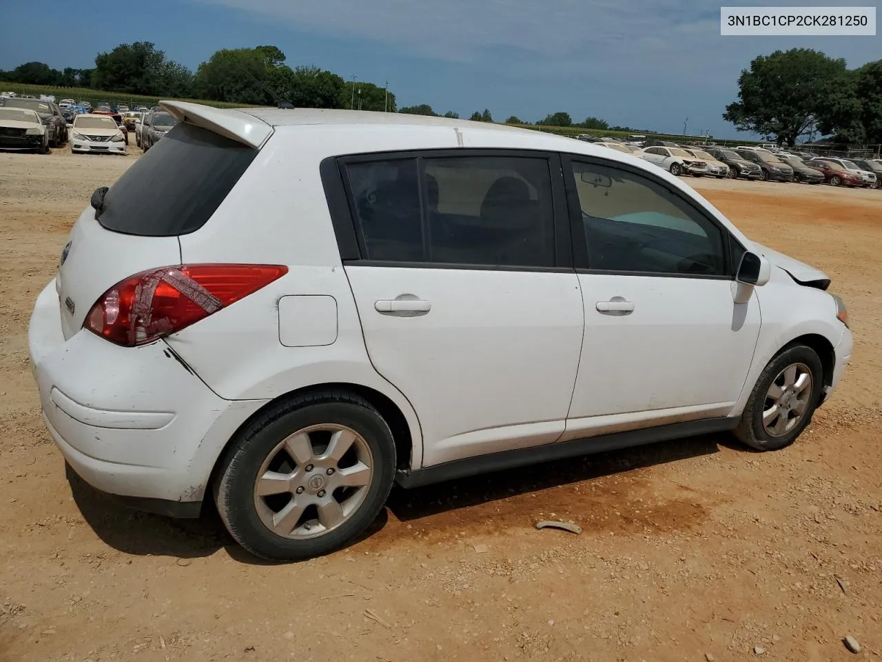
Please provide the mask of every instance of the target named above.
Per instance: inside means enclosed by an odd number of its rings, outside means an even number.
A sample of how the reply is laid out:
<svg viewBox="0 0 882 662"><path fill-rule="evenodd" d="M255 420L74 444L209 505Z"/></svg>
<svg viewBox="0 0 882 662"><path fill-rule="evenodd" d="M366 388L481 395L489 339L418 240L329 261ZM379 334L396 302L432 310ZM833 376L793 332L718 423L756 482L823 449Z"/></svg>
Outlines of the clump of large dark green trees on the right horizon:
<svg viewBox="0 0 882 662"><path fill-rule="evenodd" d="M813 49L776 50L753 59L723 119L738 131L793 146L804 136L882 143L882 60L848 69Z"/></svg>

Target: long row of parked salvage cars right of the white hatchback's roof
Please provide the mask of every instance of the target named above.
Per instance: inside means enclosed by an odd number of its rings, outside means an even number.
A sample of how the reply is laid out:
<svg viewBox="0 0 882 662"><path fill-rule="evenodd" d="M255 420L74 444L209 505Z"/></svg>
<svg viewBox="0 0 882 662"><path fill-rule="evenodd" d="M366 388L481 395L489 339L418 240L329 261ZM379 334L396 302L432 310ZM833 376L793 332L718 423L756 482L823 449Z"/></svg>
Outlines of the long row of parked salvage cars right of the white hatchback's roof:
<svg viewBox="0 0 882 662"><path fill-rule="evenodd" d="M775 182L882 188L882 159L845 159L810 153L773 151L765 147L679 146L667 140L620 142L589 139L595 145L632 154L672 175L729 177Z"/></svg>

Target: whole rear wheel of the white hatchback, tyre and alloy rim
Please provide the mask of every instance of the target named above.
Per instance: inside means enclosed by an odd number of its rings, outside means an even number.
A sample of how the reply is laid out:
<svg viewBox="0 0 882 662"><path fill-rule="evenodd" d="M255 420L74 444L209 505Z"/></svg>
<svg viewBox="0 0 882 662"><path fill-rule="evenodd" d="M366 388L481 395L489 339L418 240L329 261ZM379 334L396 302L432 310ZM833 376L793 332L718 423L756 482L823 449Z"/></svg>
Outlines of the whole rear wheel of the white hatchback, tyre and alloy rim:
<svg viewBox="0 0 882 662"><path fill-rule="evenodd" d="M215 488L230 535L269 560L351 544L385 504L395 444L379 412L327 391L280 402L239 433Z"/></svg>

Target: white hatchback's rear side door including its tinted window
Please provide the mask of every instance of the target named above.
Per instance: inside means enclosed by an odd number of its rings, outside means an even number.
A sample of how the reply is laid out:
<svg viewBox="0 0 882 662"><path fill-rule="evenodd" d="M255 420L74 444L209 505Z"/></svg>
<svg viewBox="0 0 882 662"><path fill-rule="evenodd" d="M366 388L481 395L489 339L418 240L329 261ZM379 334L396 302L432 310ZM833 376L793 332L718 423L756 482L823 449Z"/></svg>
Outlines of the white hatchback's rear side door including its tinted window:
<svg viewBox="0 0 882 662"><path fill-rule="evenodd" d="M557 441L584 326L559 156L460 149L340 165L365 345L414 406L423 466Z"/></svg>

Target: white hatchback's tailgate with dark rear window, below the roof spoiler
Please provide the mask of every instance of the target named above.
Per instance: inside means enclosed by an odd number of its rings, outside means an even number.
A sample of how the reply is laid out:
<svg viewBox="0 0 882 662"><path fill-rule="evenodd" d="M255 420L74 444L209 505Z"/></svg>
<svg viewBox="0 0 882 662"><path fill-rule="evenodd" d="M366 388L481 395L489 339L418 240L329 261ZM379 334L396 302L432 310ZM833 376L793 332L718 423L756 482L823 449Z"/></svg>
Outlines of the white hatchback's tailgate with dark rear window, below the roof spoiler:
<svg viewBox="0 0 882 662"><path fill-rule="evenodd" d="M178 236L200 228L257 151L181 124L123 173L100 210L86 208L64 246L56 290L64 336L75 334L98 297L128 276L181 263Z"/></svg>

